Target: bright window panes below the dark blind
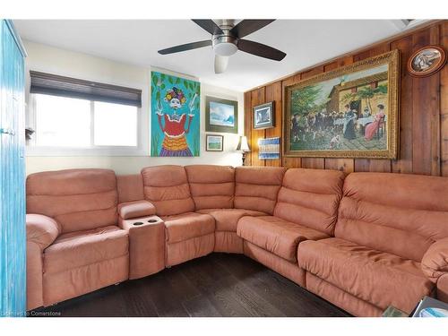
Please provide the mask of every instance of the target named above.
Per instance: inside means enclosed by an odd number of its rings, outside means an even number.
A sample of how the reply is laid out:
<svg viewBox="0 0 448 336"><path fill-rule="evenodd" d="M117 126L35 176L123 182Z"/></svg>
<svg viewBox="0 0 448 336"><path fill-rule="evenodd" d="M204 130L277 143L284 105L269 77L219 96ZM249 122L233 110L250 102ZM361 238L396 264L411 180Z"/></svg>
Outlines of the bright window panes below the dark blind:
<svg viewBox="0 0 448 336"><path fill-rule="evenodd" d="M35 145L89 148L137 146L137 108L33 94Z"/></svg>

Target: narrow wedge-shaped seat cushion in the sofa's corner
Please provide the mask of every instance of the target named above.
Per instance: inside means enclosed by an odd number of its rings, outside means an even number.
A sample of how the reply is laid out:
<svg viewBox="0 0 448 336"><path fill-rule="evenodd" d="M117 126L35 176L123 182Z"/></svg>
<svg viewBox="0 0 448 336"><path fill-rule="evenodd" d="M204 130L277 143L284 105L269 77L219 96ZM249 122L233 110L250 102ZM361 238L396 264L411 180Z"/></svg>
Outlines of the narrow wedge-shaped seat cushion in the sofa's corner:
<svg viewBox="0 0 448 336"><path fill-rule="evenodd" d="M238 220L244 216L266 216L267 213L247 209L203 209L196 211L208 213L215 219L217 231L237 232Z"/></svg>

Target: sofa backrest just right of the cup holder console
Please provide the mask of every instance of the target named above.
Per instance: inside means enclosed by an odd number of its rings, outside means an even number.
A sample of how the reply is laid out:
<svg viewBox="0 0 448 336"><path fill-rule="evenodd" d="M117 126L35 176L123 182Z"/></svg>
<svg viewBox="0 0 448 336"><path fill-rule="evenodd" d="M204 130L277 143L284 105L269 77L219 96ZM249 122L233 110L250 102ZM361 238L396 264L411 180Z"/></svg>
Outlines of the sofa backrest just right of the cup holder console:
<svg viewBox="0 0 448 336"><path fill-rule="evenodd" d="M144 198L155 205L159 216L194 211L184 167L147 167L142 169L142 177Z"/></svg>

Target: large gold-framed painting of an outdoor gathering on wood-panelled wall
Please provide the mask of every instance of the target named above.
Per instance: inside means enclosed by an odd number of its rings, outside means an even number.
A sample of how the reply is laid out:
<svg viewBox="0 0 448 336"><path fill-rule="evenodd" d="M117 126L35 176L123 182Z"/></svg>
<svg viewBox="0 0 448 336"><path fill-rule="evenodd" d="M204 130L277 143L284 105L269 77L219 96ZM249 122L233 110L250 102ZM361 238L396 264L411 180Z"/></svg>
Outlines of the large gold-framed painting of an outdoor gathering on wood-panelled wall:
<svg viewBox="0 0 448 336"><path fill-rule="evenodd" d="M284 90L284 155L396 159L400 55L318 74Z"/></svg>

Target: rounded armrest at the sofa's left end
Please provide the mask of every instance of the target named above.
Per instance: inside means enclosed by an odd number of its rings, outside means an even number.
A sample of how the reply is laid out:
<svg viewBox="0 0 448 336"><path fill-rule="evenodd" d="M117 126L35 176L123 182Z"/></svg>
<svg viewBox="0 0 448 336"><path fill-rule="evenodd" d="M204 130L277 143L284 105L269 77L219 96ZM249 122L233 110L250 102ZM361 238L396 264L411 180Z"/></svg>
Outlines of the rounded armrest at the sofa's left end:
<svg viewBox="0 0 448 336"><path fill-rule="evenodd" d="M26 215L27 242L37 244L41 250L50 246L59 236L60 228L56 220L45 215Z"/></svg>

